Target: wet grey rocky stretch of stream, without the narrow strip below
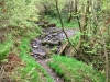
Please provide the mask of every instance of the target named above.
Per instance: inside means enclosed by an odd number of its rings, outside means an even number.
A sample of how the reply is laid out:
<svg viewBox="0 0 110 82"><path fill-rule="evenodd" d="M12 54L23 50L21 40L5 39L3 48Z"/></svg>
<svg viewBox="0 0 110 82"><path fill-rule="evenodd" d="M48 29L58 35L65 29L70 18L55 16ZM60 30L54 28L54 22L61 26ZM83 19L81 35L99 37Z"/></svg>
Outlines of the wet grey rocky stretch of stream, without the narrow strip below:
<svg viewBox="0 0 110 82"><path fill-rule="evenodd" d="M73 30L66 30L65 32L67 33L68 37L75 34ZM32 56L40 59L47 57L47 52L52 50L54 46L57 47L54 52L58 54L62 42L65 38L66 36L61 28L43 28L43 34L32 42Z"/></svg>

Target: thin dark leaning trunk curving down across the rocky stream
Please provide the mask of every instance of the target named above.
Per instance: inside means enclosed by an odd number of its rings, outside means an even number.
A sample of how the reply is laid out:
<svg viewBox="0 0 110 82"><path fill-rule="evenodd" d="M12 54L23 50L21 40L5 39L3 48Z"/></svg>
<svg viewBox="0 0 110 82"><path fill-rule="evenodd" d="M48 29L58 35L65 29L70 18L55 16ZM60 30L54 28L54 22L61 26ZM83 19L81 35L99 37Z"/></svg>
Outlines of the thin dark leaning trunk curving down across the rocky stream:
<svg viewBox="0 0 110 82"><path fill-rule="evenodd" d="M57 10L57 13L58 13L58 16L59 16L59 21L61 21L61 24L62 24L62 31L64 32L68 43L72 45L72 47L75 49L75 51L78 54L78 50L75 48L75 46L73 45L73 43L69 40L65 30L64 30L64 24L63 24L63 20L62 20L62 15L61 15L61 12L59 12L59 9L58 9L58 1L56 0L56 10Z"/></svg>

